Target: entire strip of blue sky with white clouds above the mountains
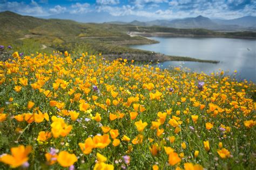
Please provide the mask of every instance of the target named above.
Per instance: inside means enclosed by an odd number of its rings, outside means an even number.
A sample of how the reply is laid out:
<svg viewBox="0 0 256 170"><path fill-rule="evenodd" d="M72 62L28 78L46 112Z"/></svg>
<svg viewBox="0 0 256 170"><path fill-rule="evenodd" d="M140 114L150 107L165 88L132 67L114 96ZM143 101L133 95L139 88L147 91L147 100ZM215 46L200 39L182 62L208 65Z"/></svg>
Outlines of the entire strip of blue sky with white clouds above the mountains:
<svg viewBox="0 0 256 170"><path fill-rule="evenodd" d="M148 19L173 19L203 15L233 19L256 15L256 0L0 0L0 11L43 17L108 13L114 17L136 16Z"/></svg>

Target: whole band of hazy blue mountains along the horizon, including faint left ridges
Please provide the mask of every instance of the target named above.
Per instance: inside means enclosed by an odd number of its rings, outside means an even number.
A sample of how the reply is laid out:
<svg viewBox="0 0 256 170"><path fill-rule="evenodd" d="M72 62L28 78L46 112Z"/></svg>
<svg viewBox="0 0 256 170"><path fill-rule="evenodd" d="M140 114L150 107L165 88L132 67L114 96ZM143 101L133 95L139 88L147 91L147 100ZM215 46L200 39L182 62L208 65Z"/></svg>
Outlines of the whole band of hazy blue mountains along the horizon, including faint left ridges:
<svg viewBox="0 0 256 170"><path fill-rule="evenodd" d="M110 13L102 12L102 15L85 13L84 15L62 13L44 17L46 19L71 19L81 23L112 23L131 24L138 26L166 26L178 29L208 29L215 31L256 31L256 17L245 16L237 19L210 19L203 16L172 19L172 20L149 20L146 17L138 16L112 16Z"/></svg>

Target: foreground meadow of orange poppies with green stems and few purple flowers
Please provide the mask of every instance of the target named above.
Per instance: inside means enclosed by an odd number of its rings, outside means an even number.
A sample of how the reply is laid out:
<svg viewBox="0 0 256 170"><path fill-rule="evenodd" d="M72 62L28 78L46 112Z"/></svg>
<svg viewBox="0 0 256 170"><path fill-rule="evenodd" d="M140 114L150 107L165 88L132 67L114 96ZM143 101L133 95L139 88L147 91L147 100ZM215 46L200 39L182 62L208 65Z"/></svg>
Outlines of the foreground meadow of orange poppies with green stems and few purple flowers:
<svg viewBox="0 0 256 170"><path fill-rule="evenodd" d="M100 54L0 61L0 169L255 169L255 84Z"/></svg>

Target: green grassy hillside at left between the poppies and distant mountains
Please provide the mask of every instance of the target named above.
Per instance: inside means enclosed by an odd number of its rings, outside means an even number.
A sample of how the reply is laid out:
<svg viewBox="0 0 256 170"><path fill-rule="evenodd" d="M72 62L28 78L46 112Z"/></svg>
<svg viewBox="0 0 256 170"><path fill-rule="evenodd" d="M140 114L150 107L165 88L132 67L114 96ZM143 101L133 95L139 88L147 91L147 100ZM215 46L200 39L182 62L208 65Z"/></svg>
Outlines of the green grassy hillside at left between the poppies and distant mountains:
<svg viewBox="0 0 256 170"><path fill-rule="evenodd" d="M85 51L111 53L122 50L134 51L117 45L156 42L142 37L131 38L126 32L110 24L83 24L60 19L46 20L21 16L13 12L1 12L0 23L4 23L0 25L0 44L5 46L12 44L24 52L32 44L38 46L38 48L33 48L35 51L40 51L42 44L48 46L47 49L74 51L79 44ZM105 38L82 39L81 37Z"/></svg>

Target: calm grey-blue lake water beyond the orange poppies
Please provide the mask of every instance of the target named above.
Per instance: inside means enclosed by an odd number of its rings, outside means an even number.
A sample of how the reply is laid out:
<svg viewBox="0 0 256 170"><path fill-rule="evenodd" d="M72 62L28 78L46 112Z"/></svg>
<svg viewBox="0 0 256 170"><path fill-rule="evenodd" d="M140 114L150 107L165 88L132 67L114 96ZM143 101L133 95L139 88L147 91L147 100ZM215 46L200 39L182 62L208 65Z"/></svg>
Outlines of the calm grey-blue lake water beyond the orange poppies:
<svg viewBox="0 0 256 170"><path fill-rule="evenodd" d="M166 55L190 56L204 60L218 60L220 63L165 61L160 68L187 67L196 72L210 74L219 69L228 74L238 72L238 79L256 82L256 40L229 38L163 38L151 37L158 44L132 45L131 48L145 49Z"/></svg>

